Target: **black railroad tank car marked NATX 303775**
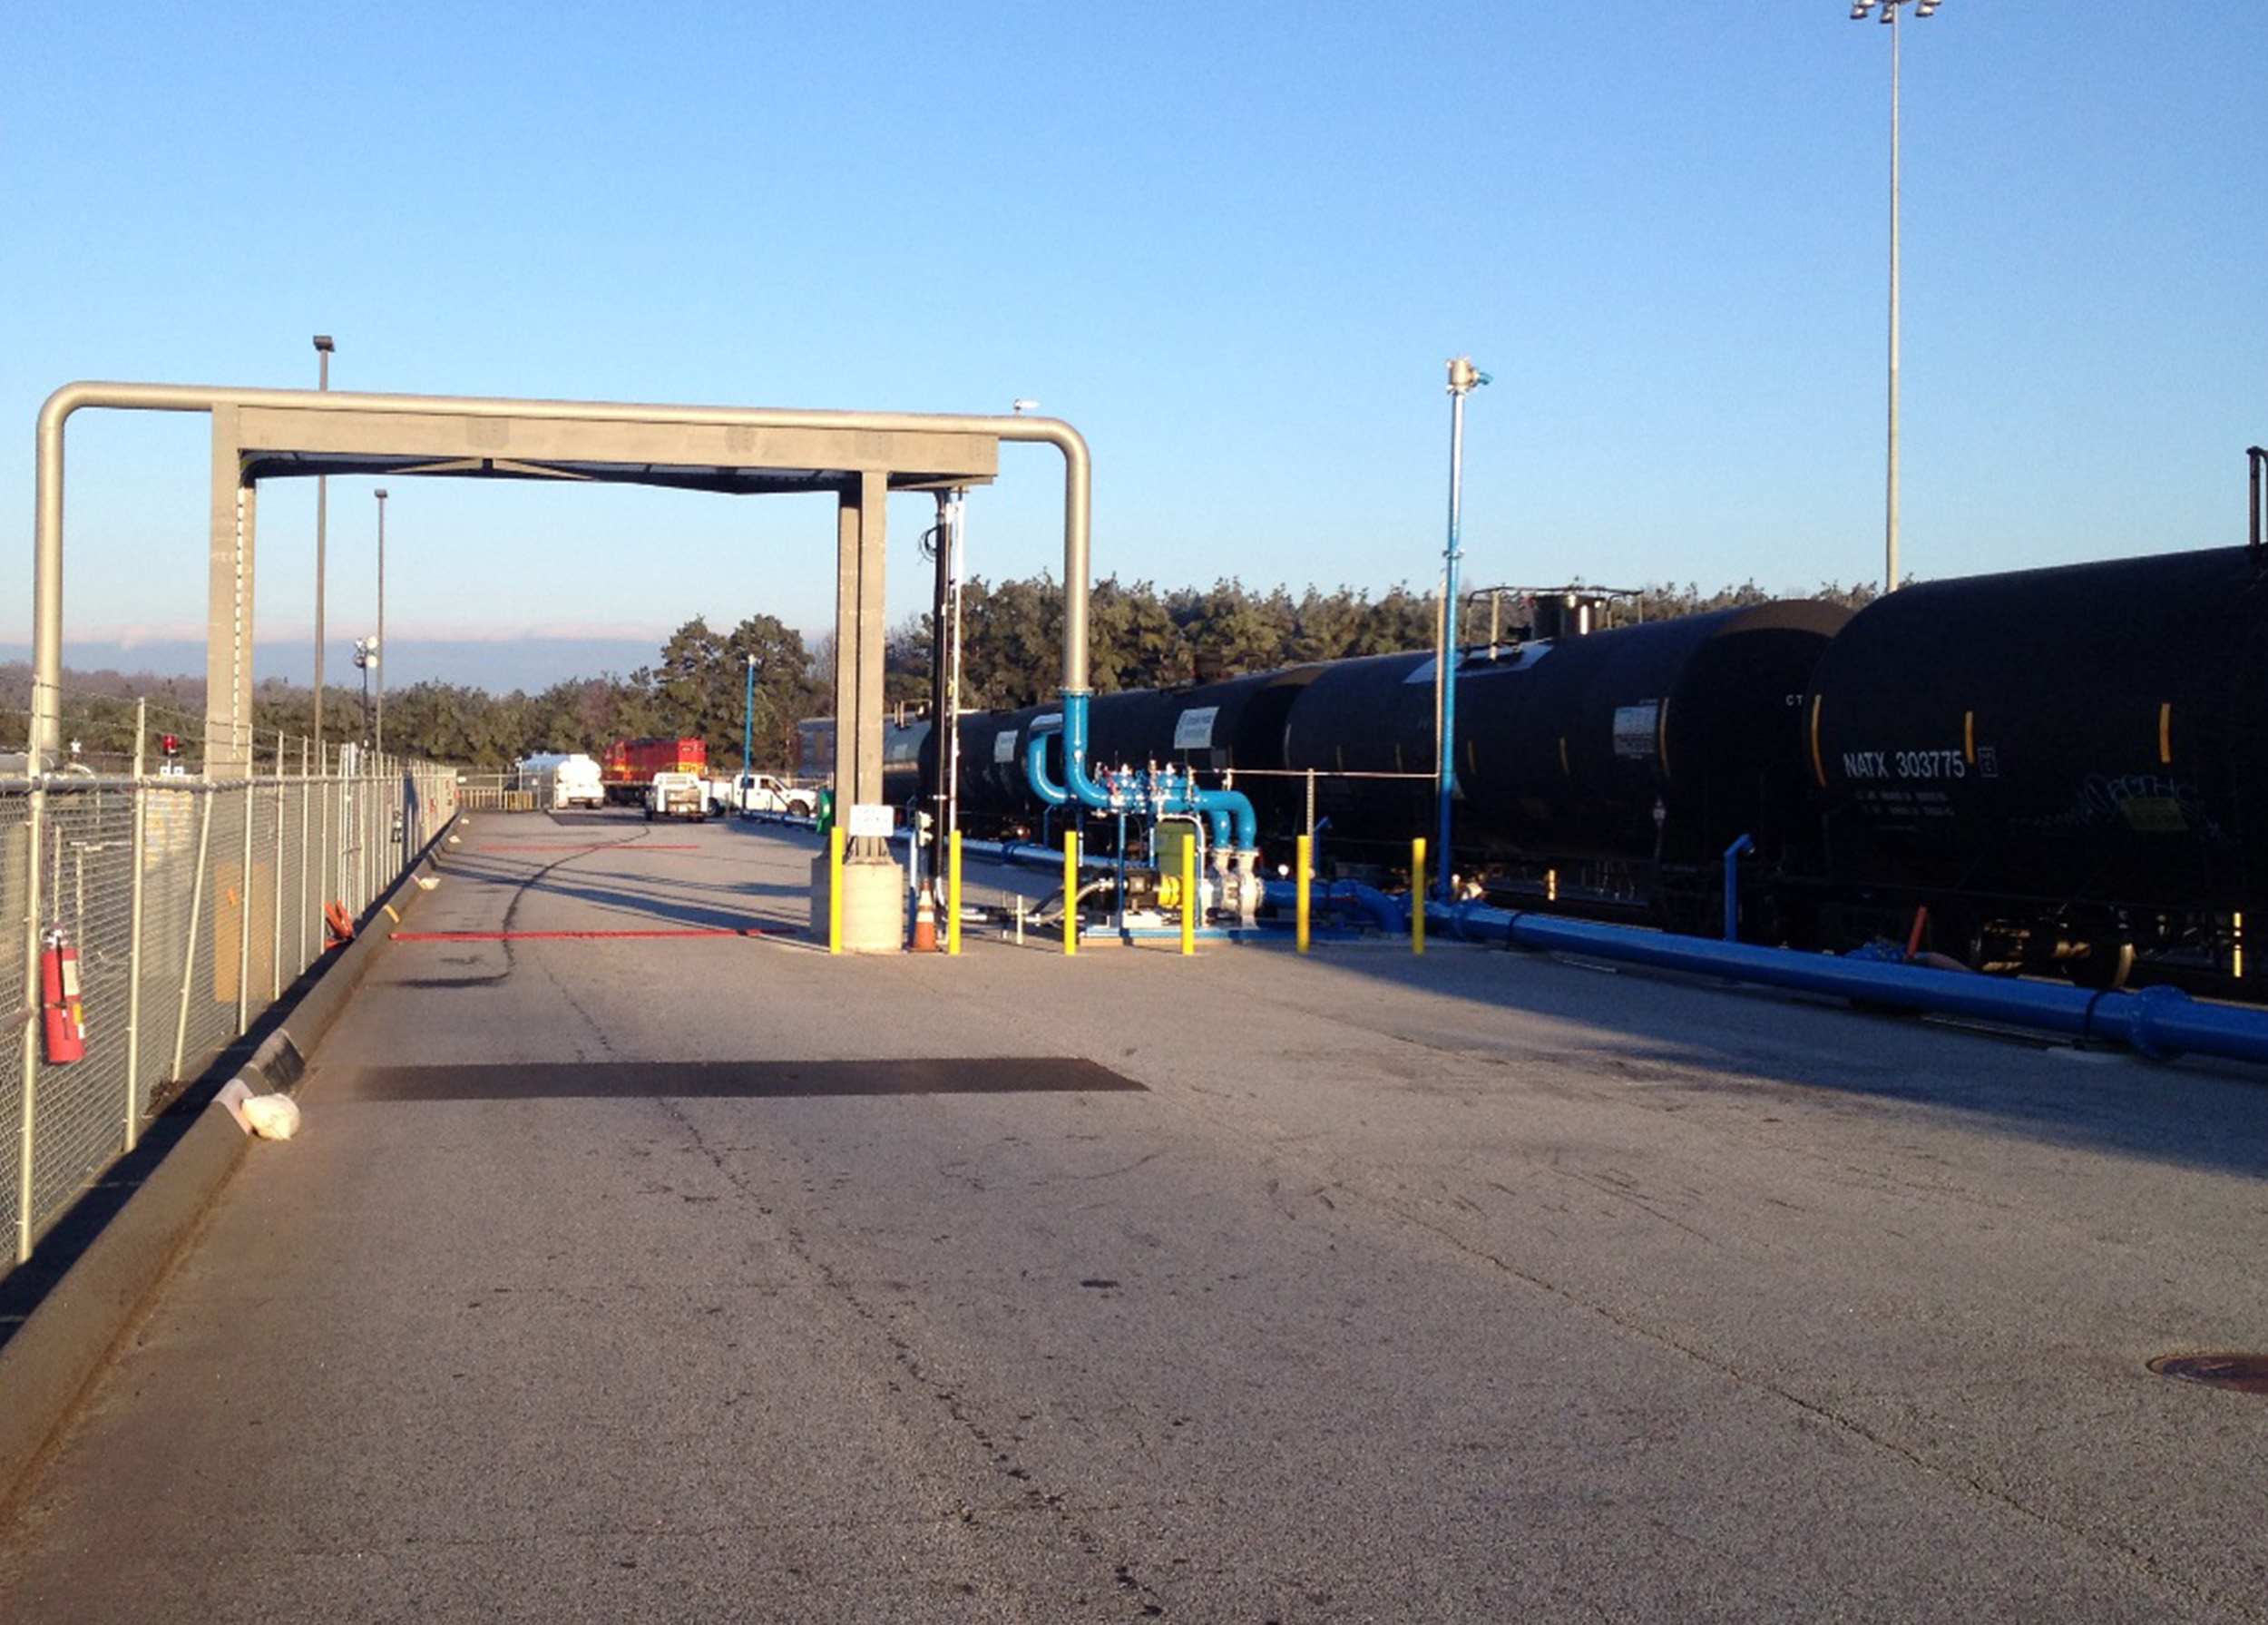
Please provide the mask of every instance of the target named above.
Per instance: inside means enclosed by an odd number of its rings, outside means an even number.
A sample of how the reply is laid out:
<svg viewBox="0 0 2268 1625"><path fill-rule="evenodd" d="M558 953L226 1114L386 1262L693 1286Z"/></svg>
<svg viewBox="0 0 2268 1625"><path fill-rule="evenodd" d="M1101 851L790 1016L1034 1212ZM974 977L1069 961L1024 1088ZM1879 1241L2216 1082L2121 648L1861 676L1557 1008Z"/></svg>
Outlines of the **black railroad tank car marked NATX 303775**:
<svg viewBox="0 0 2268 1625"><path fill-rule="evenodd" d="M2268 874L2268 576L2229 547L1901 588L1819 663L1808 733L1835 876L2193 931Z"/></svg>

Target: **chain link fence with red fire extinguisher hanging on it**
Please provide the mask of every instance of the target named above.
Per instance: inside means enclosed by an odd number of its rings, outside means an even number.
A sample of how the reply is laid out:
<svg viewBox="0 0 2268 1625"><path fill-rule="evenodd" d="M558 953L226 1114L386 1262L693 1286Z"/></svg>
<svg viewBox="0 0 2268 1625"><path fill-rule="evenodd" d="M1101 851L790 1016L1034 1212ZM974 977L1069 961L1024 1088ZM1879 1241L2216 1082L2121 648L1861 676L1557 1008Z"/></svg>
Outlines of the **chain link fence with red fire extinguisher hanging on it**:
<svg viewBox="0 0 2268 1625"><path fill-rule="evenodd" d="M0 1055L0 1144L18 1146L0 1273L322 958L327 912L361 921L458 813L454 769L322 756L270 738L220 783L141 749L61 772L0 756L0 990L23 999ZM86 1039L66 1062L45 1005L70 971Z"/></svg>

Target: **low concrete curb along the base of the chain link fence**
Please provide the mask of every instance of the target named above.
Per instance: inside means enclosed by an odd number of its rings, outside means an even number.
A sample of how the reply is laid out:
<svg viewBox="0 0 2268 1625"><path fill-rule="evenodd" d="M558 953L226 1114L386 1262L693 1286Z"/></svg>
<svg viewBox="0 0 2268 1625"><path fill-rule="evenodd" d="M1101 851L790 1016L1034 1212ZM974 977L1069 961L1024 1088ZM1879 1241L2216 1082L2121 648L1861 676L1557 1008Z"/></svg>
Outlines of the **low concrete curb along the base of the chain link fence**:
<svg viewBox="0 0 2268 1625"><path fill-rule="evenodd" d="M306 1071L324 1033L361 985L388 942L372 921L399 917L424 896L411 876L438 867L447 851L445 826L408 874L363 917L313 985L284 1010L277 1026L234 1073L256 1094L288 1092ZM59 1443L95 1378L134 1332L166 1275L188 1251L197 1228L243 1160L247 1135L227 1110L197 1110L188 1130L134 1196L73 1260L7 1344L0 1344L0 1518L14 1514L34 1473Z"/></svg>

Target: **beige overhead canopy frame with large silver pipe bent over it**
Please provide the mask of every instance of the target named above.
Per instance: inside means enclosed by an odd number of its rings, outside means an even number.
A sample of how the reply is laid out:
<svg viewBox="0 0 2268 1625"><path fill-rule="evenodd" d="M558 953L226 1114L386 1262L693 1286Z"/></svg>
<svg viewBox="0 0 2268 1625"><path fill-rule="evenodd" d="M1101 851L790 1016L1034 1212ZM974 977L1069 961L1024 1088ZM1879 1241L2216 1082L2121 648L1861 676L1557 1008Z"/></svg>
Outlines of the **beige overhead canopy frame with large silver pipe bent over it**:
<svg viewBox="0 0 2268 1625"><path fill-rule="evenodd" d="M61 749L64 694L64 427L84 409L209 413L213 420L206 638L206 776L252 760L252 579L261 477L372 474L592 479L703 490L835 490L837 799L882 792L882 508L891 488L991 481L1000 443L1064 454L1064 692L1086 694L1086 440L1059 418L640 406L617 402L358 395L200 384L98 384L54 390L39 411L32 542L29 876L25 1014L39 1008L43 917L39 847L45 790L36 774ZM844 738L846 731L846 738ZM29 1130L36 1021L23 1024ZM25 1133L29 1155L29 1133Z"/></svg>

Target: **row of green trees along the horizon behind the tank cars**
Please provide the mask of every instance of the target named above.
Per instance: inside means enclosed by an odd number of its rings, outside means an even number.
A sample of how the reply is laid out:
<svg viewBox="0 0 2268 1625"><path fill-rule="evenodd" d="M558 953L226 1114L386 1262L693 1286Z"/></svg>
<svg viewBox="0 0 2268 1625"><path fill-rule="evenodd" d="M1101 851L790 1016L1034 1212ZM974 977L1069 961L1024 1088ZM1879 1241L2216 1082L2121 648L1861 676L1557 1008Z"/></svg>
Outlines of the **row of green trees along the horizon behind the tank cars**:
<svg viewBox="0 0 2268 1625"><path fill-rule="evenodd" d="M1608 622L1665 620L1708 608L1767 601L1753 581L1703 595L1694 586L1653 586L1617 595ZM1873 588L1826 586L1814 597L1857 608ZM1517 599L1467 608L1463 638L1488 638L1524 620ZM1098 692L1173 688L1179 683L1266 672L1302 660L1343 660L1395 649L1429 649L1440 631L1431 595L1393 588L1372 599L1340 588L1284 588L1254 592L1241 581L1161 592L1148 581L1098 581L1089 595L1089 667ZM760 767L796 765L796 722L832 710L832 649L771 615L751 615L733 631L694 617L662 645L658 660L628 676L578 676L526 694L488 694L458 683L413 683L386 694L386 744L435 760L497 772L535 751L601 751L608 740L637 735L694 735L712 763L739 763L742 729L753 735ZM923 704L930 697L930 615L889 633L885 699ZM1055 692L1064 649L1064 590L1050 576L971 581L964 590L962 704L978 708L1030 706ZM751 679L753 674L753 679ZM202 726L204 683L197 679L82 674L66 683L66 738L88 753L134 749L134 708L122 697L154 697L152 729L195 733ZM0 667L0 710L27 710L29 670ZM263 683L254 722L263 740L313 733L313 690ZM331 740L358 731L361 708L333 692L324 704ZM290 760L290 758L286 758Z"/></svg>

